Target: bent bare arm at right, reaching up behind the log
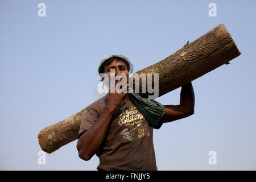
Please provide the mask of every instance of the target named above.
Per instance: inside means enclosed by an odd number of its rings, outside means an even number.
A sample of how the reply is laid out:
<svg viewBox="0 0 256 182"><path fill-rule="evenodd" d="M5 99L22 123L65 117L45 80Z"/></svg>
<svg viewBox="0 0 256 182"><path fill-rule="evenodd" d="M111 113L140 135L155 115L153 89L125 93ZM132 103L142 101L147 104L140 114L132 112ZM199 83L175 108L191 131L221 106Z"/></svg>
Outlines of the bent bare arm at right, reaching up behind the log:
<svg viewBox="0 0 256 182"><path fill-rule="evenodd" d="M181 87L180 104L164 105L164 115L160 122L171 122L188 117L194 113L195 94L192 83L189 82Z"/></svg>

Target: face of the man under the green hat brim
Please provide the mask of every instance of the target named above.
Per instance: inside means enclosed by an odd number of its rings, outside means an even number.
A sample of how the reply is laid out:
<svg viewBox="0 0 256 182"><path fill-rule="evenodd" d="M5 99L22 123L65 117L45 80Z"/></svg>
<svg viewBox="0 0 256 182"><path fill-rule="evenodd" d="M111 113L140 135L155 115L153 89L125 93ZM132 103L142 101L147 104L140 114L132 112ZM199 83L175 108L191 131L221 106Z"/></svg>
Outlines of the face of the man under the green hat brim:
<svg viewBox="0 0 256 182"><path fill-rule="evenodd" d="M108 75L109 82L110 78L115 78L119 73L123 74L126 78L126 82L128 84L129 81L129 71L127 69L127 65L122 60L113 60L109 65L104 66L104 73ZM115 85L121 80L115 80Z"/></svg>

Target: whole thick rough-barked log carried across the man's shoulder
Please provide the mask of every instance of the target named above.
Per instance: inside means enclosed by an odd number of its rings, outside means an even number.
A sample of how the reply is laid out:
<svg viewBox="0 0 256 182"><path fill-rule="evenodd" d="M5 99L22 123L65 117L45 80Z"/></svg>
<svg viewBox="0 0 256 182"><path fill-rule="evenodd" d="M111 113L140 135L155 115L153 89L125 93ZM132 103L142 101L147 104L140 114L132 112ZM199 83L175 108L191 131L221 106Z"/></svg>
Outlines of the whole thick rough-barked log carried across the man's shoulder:
<svg viewBox="0 0 256 182"><path fill-rule="evenodd" d="M159 74L160 97L223 64L229 64L230 60L240 54L226 27L220 24L166 59L137 73ZM83 112L84 109L40 131L38 140L42 150L51 153L76 140Z"/></svg>

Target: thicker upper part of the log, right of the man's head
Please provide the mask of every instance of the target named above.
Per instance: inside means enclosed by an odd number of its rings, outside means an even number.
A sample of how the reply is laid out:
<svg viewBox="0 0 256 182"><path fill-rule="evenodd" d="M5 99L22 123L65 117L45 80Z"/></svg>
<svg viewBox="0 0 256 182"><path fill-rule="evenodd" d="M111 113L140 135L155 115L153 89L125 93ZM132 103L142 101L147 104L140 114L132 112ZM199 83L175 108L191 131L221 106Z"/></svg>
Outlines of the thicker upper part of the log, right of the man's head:
<svg viewBox="0 0 256 182"><path fill-rule="evenodd" d="M166 59L141 69L137 73L138 75L142 73L159 74L158 97L160 97L223 64L229 64L230 60L240 54L241 52L228 30L224 24L220 24ZM140 90L142 85L141 79L139 81ZM152 79L152 85L154 85L154 79ZM148 93L140 94L145 98L148 96Z"/></svg>

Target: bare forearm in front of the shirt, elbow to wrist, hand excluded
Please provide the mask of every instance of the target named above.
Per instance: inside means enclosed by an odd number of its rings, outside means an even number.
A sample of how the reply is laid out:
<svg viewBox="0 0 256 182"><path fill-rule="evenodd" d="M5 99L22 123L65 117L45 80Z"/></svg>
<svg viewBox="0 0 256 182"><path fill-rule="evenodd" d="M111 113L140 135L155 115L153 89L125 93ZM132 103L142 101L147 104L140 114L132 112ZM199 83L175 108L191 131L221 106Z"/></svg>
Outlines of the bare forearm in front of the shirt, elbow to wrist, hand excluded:
<svg viewBox="0 0 256 182"><path fill-rule="evenodd" d="M113 111L113 109L105 106L96 123L81 135L77 142L77 150L79 150L80 158L89 160L96 154L106 137Z"/></svg>

